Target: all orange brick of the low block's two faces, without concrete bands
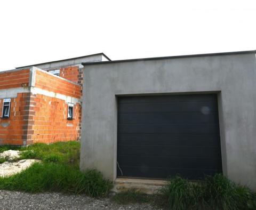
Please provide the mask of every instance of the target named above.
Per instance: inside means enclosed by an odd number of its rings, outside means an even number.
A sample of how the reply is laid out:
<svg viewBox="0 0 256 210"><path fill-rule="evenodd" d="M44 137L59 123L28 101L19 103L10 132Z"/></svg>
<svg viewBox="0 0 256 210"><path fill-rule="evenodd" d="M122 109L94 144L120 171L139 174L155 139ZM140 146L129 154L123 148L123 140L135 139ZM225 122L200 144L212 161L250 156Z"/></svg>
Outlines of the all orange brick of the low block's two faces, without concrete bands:
<svg viewBox="0 0 256 210"><path fill-rule="evenodd" d="M29 69L0 74L0 90L28 86ZM81 97L81 86L36 70L35 86L43 90ZM6 97L8 98L8 97ZM3 99L0 99L2 117ZM74 104L74 118L67 119L65 100L42 94L18 93L11 99L10 117L0 118L0 144L52 143L79 140L81 135L81 105Z"/></svg>

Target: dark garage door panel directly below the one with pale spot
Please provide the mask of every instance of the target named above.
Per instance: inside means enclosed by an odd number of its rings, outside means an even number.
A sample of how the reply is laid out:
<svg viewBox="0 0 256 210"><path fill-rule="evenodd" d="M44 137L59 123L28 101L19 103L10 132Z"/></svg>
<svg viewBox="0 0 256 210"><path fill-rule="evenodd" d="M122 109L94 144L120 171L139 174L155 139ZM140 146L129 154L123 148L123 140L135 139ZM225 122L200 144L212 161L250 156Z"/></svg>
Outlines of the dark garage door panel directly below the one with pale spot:
<svg viewBox="0 0 256 210"><path fill-rule="evenodd" d="M195 124L195 123L213 123L218 124L218 116L216 113L209 113L204 115L203 113L165 113L163 115L159 115L158 113L120 113L118 115L118 122L120 124L123 123L187 123L187 124Z"/></svg>

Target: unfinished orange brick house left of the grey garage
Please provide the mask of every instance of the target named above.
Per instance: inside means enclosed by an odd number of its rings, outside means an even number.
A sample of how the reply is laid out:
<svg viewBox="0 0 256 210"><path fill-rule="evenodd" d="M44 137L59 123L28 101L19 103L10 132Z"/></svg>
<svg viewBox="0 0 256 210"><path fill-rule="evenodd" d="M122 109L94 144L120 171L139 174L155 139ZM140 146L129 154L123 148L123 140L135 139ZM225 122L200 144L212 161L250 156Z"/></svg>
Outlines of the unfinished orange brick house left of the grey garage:
<svg viewBox="0 0 256 210"><path fill-rule="evenodd" d="M99 53L0 71L0 144L79 140L81 63L106 60Z"/></svg>

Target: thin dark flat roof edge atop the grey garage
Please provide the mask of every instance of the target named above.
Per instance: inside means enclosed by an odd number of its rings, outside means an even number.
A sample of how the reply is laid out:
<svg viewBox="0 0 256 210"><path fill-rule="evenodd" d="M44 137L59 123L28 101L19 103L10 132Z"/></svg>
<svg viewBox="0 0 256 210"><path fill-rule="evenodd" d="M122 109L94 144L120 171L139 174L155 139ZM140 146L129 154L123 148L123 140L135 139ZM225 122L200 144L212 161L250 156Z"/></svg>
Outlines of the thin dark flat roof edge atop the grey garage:
<svg viewBox="0 0 256 210"><path fill-rule="evenodd" d="M191 55L174 55L165 57L154 57L154 58L140 58L140 59L126 59L126 60L114 60L114 61L99 61L91 63L82 63L83 66L103 64L103 63L119 63L119 62L132 62L132 61L147 61L147 60L162 60L162 59L173 59L173 58L192 58L201 56L214 56L214 55L233 55L233 54L250 54L256 53L256 50L251 51L236 51L236 52L220 52L220 53L206 53L206 54L191 54Z"/></svg>

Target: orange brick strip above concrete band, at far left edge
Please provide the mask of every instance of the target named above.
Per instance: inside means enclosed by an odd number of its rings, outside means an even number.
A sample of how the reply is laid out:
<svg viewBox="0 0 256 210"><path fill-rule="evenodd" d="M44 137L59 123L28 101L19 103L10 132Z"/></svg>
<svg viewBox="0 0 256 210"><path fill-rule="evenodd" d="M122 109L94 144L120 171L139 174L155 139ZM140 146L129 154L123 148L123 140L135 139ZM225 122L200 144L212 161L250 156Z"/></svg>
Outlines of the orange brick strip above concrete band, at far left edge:
<svg viewBox="0 0 256 210"><path fill-rule="evenodd" d="M28 86L29 83L29 69L0 72L0 90Z"/></svg>

